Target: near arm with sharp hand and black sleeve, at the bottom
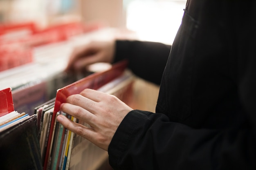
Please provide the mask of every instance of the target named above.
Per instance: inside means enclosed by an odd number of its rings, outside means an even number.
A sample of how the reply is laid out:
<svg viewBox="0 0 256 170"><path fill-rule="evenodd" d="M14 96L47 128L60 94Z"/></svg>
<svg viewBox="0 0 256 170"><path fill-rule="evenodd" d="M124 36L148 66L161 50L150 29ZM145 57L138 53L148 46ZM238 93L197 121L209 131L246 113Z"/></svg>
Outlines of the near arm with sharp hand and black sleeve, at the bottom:
<svg viewBox="0 0 256 170"><path fill-rule="evenodd" d="M132 110L91 89L68 97L61 110L90 125L57 117L65 128L108 150L110 165L117 170L256 168L255 119L237 127L195 129L161 113ZM247 114L253 117L255 112Z"/></svg>

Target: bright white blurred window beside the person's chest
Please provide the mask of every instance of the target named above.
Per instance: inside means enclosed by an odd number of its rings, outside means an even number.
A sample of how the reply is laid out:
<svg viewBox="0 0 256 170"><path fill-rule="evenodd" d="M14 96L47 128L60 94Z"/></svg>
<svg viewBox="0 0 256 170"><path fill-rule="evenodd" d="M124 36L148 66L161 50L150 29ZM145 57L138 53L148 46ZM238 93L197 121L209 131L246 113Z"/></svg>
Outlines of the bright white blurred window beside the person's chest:
<svg viewBox="0 0 256 170"><path fill-rule="evenodd" d="M172 44L181 24L186 0L130 0L126 26L140 40Z"/></svg>

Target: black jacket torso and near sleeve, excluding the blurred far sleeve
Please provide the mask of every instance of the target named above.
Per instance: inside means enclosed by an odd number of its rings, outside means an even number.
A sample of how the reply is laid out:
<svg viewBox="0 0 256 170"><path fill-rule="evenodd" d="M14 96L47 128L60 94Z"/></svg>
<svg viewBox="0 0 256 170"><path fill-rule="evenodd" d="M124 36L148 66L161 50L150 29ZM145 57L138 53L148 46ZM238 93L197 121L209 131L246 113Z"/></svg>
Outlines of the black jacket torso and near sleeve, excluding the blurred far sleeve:
<svg viewBox="0 0 256 170"><path fill-rule="evenodd" d="M156 113L124 118L108 148L114 169L256 169L254 9L254 0L187 2Z"/></svg>

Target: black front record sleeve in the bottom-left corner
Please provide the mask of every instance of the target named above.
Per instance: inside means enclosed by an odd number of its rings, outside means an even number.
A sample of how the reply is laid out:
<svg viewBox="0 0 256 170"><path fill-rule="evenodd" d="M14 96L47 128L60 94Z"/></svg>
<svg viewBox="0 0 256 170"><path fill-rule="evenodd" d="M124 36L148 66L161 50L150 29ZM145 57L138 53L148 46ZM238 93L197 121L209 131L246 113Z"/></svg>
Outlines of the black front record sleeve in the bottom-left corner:
<svg viewBox="0 0 256 170"><path fill-rule="evenodd" d="M0 132L2 170L42 170L36 115Z"/></svg>

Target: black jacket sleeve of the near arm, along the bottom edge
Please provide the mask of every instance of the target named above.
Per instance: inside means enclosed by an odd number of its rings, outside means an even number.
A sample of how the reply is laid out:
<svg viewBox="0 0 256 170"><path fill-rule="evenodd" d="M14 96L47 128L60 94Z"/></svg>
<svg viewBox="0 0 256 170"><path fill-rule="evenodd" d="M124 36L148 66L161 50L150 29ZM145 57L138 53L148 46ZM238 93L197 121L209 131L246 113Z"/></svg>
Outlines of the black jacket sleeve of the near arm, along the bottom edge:
<svg viewBox="0 0 256 170"><path fill-rule="evenodd" d="M193 129L161 113L133 110L108 153L115 170L253 170L255 144L253 128Z"/></svg>

